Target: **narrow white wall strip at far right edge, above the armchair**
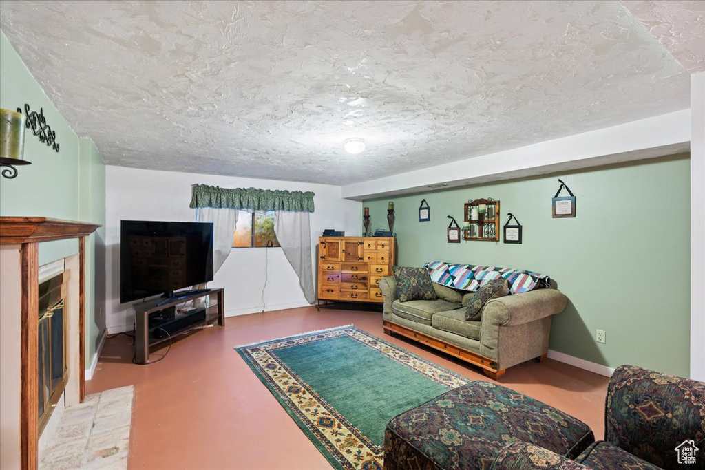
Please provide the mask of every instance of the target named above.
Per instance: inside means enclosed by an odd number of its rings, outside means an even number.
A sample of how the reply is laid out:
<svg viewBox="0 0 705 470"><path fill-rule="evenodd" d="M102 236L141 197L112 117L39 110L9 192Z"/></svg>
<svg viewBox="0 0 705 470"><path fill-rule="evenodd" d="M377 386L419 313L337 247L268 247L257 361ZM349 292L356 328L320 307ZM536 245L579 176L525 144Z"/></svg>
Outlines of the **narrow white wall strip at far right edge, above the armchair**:
<svg viewBox="0 0 705 470"><path fill-rule="evenodd" d="M690 75L690 377L705 381L705 72Z"/></svg>

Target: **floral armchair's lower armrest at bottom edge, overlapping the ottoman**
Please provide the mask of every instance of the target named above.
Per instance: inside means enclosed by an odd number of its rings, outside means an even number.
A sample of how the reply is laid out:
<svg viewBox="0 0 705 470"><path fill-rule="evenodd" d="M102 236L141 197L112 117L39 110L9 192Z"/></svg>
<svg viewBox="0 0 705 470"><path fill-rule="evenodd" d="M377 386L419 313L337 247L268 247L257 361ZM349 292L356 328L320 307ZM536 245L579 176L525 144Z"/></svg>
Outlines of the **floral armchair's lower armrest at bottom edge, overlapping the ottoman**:
<svg viewBox="0 0 705 470"><path fill-rule="evenodd" d="M589 467L551 452L544 447L528 443L513 443L504 447L491 470L585 470Z"/></svg>

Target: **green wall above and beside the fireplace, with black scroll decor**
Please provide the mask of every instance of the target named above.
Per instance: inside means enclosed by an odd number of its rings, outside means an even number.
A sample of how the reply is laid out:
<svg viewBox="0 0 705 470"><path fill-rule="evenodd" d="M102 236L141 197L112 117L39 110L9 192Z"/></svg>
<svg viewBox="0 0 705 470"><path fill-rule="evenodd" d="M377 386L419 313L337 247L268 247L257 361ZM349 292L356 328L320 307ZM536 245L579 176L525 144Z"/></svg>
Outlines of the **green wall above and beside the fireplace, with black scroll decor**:
<svg viewBox="0 0 705 470"><path fill-rule="evenodd" d="M18 176L12 180L0 178L0 216L42 216L72 221L105 223L105 164L95 145L88 139L79 139L44 94L32 74L25 67L12 45L0 32L0 107L15 110L30 105L30 111L41 108L51 130L56 132L57 153L39 142L27 130L25 159L31 165L18 167ZM101 315L104 307L96 293L104 299L104 229L92 235L87 243L86 283L86 365L95 352L97 338L102 333ZM101 245L102 243L102 251ZM78 253L78 240L62 240L39 244L39 264ZM100 256L102 260L96 255ZM103 279L102 286L99 280ZM103 301L104 302L104 301Z"/></svg>

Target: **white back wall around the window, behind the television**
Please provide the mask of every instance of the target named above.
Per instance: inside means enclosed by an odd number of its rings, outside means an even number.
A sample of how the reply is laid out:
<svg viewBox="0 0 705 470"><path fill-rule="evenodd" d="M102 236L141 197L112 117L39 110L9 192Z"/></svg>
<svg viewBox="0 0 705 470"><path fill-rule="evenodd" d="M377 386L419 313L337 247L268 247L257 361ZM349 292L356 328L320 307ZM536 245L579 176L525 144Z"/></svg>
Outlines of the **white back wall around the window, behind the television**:
<svg viewBox="0 0 705 470"><path fill-rule="evenodd" d="M341 197L341 187L276 180L198 175L171 171L106 167L106 327L109 333L131 330L131 304L120 304L120 221L195 221L190 209L191 185L257 187L265 190L313 191L316 210L311 214L312 247L324 228L360 235L362 203ZM265 271L265 256L267 270ZM315 272L315 270L314 270ZM233 249L209 287L225 289L226 315L262 311L262 289L267 311L307 305L299 280L280 248Z"/></svg>

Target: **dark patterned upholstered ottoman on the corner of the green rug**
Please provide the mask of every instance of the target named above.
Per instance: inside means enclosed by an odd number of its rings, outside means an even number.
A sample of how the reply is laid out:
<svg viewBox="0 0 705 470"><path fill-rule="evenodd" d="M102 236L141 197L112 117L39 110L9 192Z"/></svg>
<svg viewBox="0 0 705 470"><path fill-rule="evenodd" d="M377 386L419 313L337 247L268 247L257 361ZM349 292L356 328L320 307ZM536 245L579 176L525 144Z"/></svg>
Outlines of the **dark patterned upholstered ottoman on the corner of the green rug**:
<svg viewBox="0 0 705 470"><path fill-rule="evenodd" d="M595 440L587 424L519 392L472 382L389 421L385 470L489 469L508 444L575 459Z"/></svg>

